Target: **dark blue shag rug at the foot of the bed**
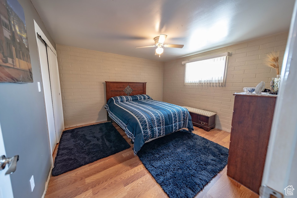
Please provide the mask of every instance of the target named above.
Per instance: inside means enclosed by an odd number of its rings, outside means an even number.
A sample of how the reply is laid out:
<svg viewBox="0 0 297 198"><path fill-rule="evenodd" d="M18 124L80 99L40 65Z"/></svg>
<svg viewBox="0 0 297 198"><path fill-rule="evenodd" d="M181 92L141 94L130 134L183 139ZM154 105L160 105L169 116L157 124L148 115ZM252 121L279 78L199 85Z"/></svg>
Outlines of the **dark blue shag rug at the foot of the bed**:
<svg viewBox="0 0 297 198"><path fill-rule="evenodd" d="M229 150L177 131L143 145L137 155L171 198L195 197L227 165Z"/></svg>

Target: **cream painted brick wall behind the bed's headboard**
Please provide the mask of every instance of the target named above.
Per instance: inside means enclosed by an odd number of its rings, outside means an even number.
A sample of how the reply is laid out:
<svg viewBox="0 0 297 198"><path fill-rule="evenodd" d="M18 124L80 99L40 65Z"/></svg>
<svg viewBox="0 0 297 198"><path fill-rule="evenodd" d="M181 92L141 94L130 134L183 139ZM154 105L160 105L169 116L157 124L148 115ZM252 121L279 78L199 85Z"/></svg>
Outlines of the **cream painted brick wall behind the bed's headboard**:
<svg viewBox="0 0 297 198"><path fill-rule="evenodd" d="M65 128L107 120L104 81L147 82L162 101L164 63L57 45Z"/></svg>

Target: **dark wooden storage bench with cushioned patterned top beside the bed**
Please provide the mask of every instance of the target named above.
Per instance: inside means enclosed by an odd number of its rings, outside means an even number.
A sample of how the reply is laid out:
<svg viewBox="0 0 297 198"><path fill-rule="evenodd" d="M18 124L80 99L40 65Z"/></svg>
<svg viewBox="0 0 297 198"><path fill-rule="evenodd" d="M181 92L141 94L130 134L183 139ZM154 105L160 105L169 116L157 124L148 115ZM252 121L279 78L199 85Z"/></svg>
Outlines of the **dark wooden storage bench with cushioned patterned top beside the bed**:
<svg viewBox="0 0 297 198"><path fill-rule="evenodd" d="M196 109L193 107L183 106L188 109L194 126L203 128L205 131L209 131L215 126L216 113L211 111L205 111L202 109Z"/></svg>

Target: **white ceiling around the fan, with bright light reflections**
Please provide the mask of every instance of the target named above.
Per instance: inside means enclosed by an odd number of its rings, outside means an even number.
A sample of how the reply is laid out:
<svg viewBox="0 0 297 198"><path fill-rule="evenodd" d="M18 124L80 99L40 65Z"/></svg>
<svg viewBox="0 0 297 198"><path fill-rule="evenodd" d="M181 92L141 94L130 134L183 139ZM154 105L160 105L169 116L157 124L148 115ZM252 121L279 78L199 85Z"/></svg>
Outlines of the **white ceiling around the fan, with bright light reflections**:
<svg viewBox="0 0 297 198"><path fill-rule="evenodd" d="M57 44L158 61L289 30L294 0L31 0ZM161 57L154 37L167 34Z"/></svg>

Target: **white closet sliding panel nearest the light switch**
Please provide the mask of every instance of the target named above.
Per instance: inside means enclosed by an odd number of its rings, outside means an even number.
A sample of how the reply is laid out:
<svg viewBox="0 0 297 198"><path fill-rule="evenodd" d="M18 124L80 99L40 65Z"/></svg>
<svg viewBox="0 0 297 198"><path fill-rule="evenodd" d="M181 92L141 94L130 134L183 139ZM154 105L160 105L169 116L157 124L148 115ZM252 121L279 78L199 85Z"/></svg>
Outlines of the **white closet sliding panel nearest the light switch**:
<svg viewBox="0 0 297 198"><path fill-rule="evenodd" d="M53 113L53 100L50 88L50 73L48 69L48 55L46 52L45 42L37 36L37 45L39 51L40 67L41 67L41 76L43 83L43 91L45 98L45 110L48 124L48 132L50 139L50 150L53 153L57 140L56 140L56 130L55 130L55 120Z"/></svg>

